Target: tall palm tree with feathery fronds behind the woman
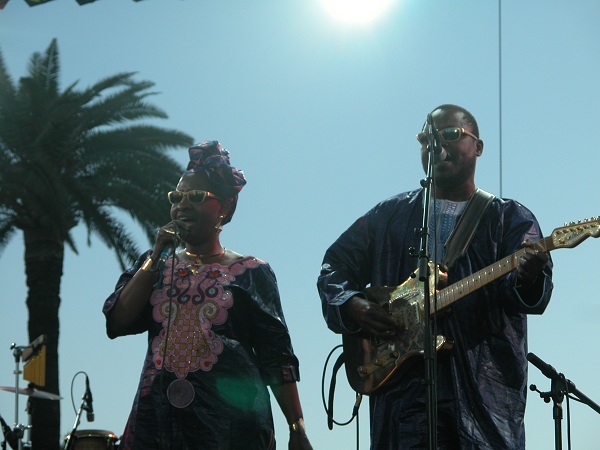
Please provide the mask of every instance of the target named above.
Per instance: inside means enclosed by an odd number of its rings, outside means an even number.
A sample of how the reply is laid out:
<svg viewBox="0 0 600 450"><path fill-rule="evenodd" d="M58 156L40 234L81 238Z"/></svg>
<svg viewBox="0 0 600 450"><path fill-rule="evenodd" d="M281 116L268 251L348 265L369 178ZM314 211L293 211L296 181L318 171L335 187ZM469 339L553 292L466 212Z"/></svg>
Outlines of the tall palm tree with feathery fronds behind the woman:
<svg viewBox="0 0 600 450"><path fill-rule="evenodd" d="M61 91L56 39L31 57L28 76L14 83L0 54L0 250L23 232L28 334L46 336L45 391L59 394L60 281L65 244L83 222L124 268L139 254L115 214L126 211L152 238L170 219L164 193L182 167L167 156L188 147L182 132L140 123L167 115L146 101L149 81L119 73L87 89ZM58 449L60 405L32 398L34 449Z"/></svg>

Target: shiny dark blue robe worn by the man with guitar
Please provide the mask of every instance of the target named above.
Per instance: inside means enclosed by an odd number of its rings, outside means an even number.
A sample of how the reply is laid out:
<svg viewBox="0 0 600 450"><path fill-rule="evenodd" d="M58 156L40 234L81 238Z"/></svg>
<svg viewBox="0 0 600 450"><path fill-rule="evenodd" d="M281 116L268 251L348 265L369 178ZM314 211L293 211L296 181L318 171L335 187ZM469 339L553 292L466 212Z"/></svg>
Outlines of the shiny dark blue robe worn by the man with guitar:
<svg viewBox="0 0 600 450"><path fill-rule="evenodd" d="M350 226L327 250L317 287L327 325L356 332L340 306L371 286L397 286L418 261L423 190L391 197ZM542 238L534 215L510 199L495 198L471 244L448 273L453 284ZM541 314L552 292L552 261L536 289L518 286L516 271L455 302L437 321L438 334L454 342L437 353L438 443L440 448L523 449L527 394L527 314ZM370 397L373 450L428 448L422 358Z"/></svg>

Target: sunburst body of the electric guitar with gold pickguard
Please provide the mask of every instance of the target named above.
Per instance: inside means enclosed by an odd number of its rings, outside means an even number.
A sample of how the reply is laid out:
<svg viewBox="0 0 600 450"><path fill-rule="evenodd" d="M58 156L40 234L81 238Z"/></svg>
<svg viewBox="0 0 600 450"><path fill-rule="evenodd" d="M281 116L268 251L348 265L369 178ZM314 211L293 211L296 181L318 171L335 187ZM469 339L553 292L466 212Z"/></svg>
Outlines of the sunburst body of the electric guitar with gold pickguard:
<svg viewBox="0 0 600 450"><path fill-rule="evenodd" d="M432 265L430 264L430 267ZM443 278L440 273L439 278ZM432 278L433 280L433 278ZM370 287L367 298L382 306L396 322L396 335L389 340L365 337L360 333L345 334L343 347L348 382L355 392L370 395L390 378L401 375L401 367L412 357L424 352L424 283L418 281L418 270L395 288ZM433 281L430 292L433 295ZM435 348L450 344L436 336Z"/></svg>

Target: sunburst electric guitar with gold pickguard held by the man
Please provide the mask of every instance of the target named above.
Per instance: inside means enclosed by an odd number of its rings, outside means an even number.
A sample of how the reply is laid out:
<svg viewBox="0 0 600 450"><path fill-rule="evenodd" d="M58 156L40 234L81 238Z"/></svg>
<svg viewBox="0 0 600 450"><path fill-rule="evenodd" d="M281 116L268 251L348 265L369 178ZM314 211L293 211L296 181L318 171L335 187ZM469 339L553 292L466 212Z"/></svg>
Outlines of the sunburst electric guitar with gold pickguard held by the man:
<svg viewBox="0 0 600 450"><path fill-rule="evenodd" d="M537 241L532 247L522 248L510 256L481 269L467 278L436 292L435 277L429 277L431 315L442 311L455 301L506 275L517 268L519 258L525 252L535 250L549 252L557 248L573 248L588 237L600 236L600 216L583 222L572 222L556 228L552 234ZM433 264L430 270L438 271L438 278L445 274ZM400 376L399 370L409 359L424 353L423 323L425 313L424 282L419 281L418 269L397 287L368 287L367 298L383 306L397 324L396 335L389 340L368 338L360 334L345 334L343 348L346 376L355 392L370 395L392 378ZM434 305L434 294L437 301ZM433 338L435 350L452 346L444 336Z"/></svg>

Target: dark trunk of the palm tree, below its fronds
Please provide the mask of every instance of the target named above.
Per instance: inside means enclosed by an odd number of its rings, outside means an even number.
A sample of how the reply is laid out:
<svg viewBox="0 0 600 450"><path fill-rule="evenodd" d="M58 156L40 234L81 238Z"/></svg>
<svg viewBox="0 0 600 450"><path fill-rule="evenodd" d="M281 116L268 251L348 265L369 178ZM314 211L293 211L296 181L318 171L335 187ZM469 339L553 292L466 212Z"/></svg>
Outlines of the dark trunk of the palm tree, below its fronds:
<svg viewBox="0 0 600 450"><path fill-rule="evenodd" d="M46 336L46 384L40 389L59 394L58 309L64 242L40 228L24 230L24 237L29 339L31 342L42 334ZM60 402L32 397L29 400L32 450L58 450Z"/></svg>

